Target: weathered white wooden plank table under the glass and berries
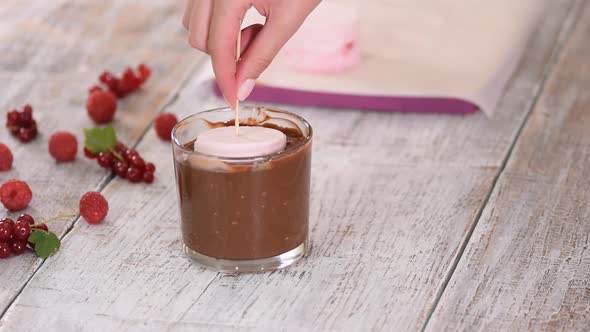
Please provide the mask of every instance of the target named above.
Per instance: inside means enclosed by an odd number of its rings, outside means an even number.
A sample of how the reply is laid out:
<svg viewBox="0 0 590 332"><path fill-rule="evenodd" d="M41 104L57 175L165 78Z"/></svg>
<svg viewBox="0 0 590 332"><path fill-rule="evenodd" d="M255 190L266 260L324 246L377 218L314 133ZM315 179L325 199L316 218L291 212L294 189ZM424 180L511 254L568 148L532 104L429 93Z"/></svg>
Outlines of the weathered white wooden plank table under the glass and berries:
<svg viewBox="0 0 590 332"><path fill-rule="evenodd" d="M589 330L590 1L550 3L491 119L288 107L316 133L311 253L224 275L181 253L171 148L150 128L158 112L222 105L182 2L2 0L0 108L32 103L41 136L0 130L16 159L0 180L31 185L34 216L76 211L89 190L110 212L54 224L63 244L47 260L0 261L0 331ZM81 153L56 165L49 135L81 141L92 125L87 87L139 61L153 78L115 126L155 183Z"/></svg>

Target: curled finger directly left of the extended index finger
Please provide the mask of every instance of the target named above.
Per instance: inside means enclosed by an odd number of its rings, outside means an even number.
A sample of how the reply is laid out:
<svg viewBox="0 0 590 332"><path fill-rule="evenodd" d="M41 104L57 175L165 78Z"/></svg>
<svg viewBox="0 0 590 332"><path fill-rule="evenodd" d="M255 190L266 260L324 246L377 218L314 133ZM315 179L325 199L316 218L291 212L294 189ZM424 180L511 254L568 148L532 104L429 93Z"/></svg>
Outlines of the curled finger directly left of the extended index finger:
<svg viewBox="0 0 590 332"><path fill-rule="evenodd" d="M207 53L207 39L213 0L192 0L191 2L188 42L192 47Z"/></svg>

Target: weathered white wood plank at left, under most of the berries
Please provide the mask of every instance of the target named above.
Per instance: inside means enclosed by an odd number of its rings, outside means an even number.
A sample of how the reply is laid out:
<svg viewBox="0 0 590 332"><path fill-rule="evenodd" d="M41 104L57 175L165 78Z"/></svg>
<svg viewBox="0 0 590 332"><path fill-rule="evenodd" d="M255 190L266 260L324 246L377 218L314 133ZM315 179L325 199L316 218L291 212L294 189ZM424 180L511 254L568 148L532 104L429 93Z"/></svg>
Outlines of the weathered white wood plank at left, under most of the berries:
<svg viewBox="0 0 590 332"><path fill-rule="evenodd" d="M8 1L0 5L0 141L9 145L14 168L0 173L25 180L34 196L26 210L38 218L76 212L86 191L101 188L106 171L83 157L56 164L47 140L57 130L75 133L93 126L86 115L87 89L104 69L119 71L144 61L153 78L143 91L119 102L115 126L122 141L134 144L153 115L169 102L199 55L185 47L179 23L182 4L170 1ZM131 18L132 17L132 18ZM31 103L40 136L21 144L4 128L5 112ZM1 208L2 217L18 216ZM60 235L73 220L55 222ZM0 313L42 263L33 254L0 261Z"/></svg>

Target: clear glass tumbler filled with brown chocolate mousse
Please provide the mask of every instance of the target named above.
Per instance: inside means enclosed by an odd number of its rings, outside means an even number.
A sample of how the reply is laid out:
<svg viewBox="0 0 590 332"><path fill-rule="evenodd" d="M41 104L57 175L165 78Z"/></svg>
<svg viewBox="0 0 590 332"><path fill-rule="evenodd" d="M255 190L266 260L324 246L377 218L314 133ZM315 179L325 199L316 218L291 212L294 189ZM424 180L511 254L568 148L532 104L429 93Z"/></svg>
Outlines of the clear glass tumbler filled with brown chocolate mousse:
<svg viewBox="0 0 590 332"><path fill-rule="evenodd" d="M172 132L184 252L222 272L289 266L307 250L312 128L302 117L242 107L241 125L283 131L287 147L251 158L195 152L199 133L233 125L230 108L194 114Z"/></svg>

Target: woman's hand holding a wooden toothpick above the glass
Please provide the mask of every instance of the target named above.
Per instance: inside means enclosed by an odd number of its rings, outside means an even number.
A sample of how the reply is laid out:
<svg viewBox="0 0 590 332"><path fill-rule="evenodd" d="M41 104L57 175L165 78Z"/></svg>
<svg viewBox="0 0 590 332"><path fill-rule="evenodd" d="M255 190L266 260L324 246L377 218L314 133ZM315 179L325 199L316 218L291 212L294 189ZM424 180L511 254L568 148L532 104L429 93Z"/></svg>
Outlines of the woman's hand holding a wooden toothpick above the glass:
<svg viewBox="0 0 590 332"><path fill-rule="evenodd" d="M321 0L188 0L183 24L189 43L208 53L225 100L232 107L252 92L258 76L299 29ZM241 31L241 60L236 42L246 11L254 6L266 22Z"/></svg>

